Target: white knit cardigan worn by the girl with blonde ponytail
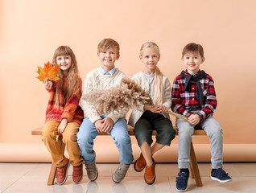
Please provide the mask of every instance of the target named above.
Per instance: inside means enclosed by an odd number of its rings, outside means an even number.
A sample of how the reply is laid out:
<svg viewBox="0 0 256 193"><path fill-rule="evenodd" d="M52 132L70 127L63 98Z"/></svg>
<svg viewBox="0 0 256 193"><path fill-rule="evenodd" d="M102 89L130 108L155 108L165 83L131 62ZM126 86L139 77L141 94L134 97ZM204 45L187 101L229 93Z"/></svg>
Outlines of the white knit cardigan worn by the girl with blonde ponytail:
<svg viewBox="0 0 256 193"><path fill-rule="evenodd" d="M132 77L132 80L137 82L143 89L146 91L149 90L149 79L143 74L143 72L138 72ZM170 109L171 107L171 84L168 80L167 76L163 75L163 90L164 90L164 96L163 96L163 105L167 107L167 109ZM151 89L152 93L151 96L154 96L154 89ZM142 113L144 112L144 105L141 105L138 109L133 109L132 113L130 114L128 125L134 126L138 119L142 116ZM168 113L163 113L164 117L167 117L170 119Z"/></svg>

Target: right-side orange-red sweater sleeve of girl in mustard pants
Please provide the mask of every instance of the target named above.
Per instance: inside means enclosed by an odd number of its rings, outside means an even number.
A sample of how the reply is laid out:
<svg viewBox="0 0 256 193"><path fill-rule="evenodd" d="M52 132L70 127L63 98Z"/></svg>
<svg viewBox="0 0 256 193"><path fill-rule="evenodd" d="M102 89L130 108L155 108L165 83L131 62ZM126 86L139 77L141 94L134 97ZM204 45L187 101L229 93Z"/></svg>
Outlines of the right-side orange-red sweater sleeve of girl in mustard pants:
<svg viewBox="0 0 256 193"><path fill-rule="evenodd" d="M72 121L81 98L81 87L82 80L80 79L79 87L77 88L76 92L73 93L72 96L68 99L64 107L64 112L62 113L61 119L68 119L68 122Z"/></svg>

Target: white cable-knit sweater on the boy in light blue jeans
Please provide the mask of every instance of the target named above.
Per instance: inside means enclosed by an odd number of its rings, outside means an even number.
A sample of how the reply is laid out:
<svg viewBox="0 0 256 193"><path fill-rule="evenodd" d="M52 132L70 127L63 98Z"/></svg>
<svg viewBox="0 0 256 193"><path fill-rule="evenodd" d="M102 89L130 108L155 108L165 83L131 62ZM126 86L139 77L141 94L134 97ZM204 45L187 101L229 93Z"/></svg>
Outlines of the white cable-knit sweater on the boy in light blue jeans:
<svg viewBox="0 0 256 193"><path fill-rule="evenodd" d="M100 68L94 69L89 72L85 78L84 88L81 97L81 107L84 110L85 117L88 117L93 123L98 119L101 119L97 115L96 107L89 104L89 102L83 100L85 93L90 92L92 89L109 89L121 83L122 78L126 78L126 75L119 71L118 68L113 75L103 75L101 74ZM118 121L119 118L125 117L127 111L122 113L109 113L110 117L114 122Z"/></svg>

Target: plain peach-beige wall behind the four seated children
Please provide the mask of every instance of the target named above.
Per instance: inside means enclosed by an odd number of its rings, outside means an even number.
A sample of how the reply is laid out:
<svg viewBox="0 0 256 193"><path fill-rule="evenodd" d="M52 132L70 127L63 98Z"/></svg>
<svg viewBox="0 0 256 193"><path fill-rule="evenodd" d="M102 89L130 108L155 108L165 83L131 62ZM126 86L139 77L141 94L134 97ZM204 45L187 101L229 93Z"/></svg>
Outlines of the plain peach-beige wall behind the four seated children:
<svg viewBox="0 0 256 193"><path fill-rule="evenodd" d="M113 38L121 46L117 67L129 77L142 70L142 43L158 43L159 68L171 82L184 69L184 45L202 44L225 144L254 144L255 6L253 0L0 1L0 143L41 143L31 129L43 125L48 96L35 77L56 47L72 47L84 80L100 65L97 43Z"/></svg>

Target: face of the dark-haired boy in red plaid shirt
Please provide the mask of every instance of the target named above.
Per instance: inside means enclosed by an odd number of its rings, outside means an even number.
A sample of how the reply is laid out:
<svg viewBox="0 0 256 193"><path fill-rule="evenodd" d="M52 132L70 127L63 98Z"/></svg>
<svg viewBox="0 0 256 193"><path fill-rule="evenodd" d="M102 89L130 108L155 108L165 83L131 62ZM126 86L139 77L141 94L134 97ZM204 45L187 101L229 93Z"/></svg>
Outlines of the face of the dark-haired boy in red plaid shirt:
<svg viewBox="0 0 256 193"><path fill-rule="evenodd" d="M199 71L200 64L204 62L204 57L202 58L198 51L188 51L181 60L187 68L188 73L195 75Z"/></svg>

